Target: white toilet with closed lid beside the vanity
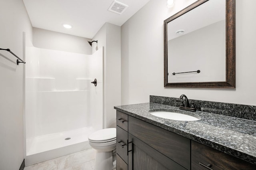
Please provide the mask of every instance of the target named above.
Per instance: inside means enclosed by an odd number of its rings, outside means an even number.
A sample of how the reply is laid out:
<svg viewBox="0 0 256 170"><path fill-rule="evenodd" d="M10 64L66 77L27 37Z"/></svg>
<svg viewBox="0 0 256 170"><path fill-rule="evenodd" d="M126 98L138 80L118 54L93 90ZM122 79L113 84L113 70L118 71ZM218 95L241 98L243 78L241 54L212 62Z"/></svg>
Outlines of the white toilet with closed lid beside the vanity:
<svg viewBox="0 0 256 170"><path fill-rule="evenodd" d="M88 136L89 144L96 149L95 170L116 168L116 128L105 128Z"/></svg>

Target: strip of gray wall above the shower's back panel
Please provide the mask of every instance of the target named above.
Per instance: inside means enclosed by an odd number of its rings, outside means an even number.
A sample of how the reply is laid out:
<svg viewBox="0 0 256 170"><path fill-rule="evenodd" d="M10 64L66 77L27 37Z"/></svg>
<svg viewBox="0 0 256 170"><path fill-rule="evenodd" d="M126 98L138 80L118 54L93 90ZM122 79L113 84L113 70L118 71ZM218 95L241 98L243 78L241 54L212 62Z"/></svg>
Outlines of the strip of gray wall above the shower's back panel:
<svg viewBox="0 0 256 170"><path fill-rule="evenodd" d="M92 47L87 41L91 39L33 28L33 45L38 48L92 54Z"/></svg>

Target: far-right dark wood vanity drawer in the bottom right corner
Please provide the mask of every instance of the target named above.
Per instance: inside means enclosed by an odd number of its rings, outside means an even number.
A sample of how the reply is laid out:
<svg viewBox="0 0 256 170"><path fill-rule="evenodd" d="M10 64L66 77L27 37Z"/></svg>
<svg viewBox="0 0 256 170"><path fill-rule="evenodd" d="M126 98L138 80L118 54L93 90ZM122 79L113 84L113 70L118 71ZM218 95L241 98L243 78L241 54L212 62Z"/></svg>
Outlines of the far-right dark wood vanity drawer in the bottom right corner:
<svg viewBox="0 0 256 170"><path fill-rule="evenodd" d="M207 167L208 166L208 167ZM256 170L256 165L191 141L192 170Z"/></svg>

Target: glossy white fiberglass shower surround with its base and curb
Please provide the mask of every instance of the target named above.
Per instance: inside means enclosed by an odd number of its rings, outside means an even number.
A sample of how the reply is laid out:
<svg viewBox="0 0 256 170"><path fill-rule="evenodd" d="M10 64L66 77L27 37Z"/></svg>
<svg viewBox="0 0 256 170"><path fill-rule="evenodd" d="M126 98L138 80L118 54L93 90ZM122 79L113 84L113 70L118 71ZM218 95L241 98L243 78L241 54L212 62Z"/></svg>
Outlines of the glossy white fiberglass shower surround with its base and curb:
<svg viewBox="0 0 256 170"><path fill-rule="evenodd" d="M90 148L103 128L103 51L26 47L26 165Z"/></svg>

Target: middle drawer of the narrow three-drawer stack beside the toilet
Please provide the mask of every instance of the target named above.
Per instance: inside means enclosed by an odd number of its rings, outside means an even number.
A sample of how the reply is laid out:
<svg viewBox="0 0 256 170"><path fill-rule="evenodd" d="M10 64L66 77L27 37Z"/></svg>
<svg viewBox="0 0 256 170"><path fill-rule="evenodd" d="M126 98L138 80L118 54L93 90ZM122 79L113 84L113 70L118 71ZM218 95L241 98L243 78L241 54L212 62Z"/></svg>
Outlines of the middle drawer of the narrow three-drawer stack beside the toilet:
<svg viewBox="0 0 256 170"><path fill-rule="evenodd" d="M126 132L124 129L116 126L116 153L126 163L128 163L127 142L128 142L128 132Z"/></svg>

